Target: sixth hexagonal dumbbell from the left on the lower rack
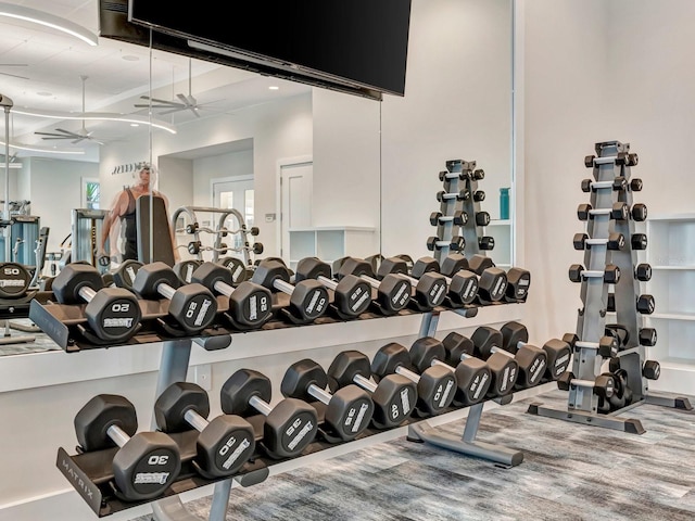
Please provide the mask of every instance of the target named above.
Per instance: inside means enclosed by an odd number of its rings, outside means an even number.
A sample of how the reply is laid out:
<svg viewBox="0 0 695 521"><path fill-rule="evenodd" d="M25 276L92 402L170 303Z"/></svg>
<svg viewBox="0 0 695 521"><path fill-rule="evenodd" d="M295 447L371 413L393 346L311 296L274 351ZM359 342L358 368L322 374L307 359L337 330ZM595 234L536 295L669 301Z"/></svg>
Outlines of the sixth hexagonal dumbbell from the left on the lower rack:
<svg viewBox="0 0 695 521"><path fill-rule="evenodd" d="M382 346L371 360L371 372L376 379L388 374L402 374L417 385L417 411L420 416L443 412L454 399L456 377L451 368L433 365L419 374L415 372L408 350L396 342Z"/></svg>

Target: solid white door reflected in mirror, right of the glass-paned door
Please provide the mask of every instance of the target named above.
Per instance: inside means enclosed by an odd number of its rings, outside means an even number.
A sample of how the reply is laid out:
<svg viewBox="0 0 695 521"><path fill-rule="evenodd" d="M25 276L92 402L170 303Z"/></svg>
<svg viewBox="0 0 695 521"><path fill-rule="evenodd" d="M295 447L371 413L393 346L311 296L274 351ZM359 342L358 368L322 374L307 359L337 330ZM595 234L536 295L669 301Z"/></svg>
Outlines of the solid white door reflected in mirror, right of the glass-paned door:
<svg viewBox="0 0 695 521"><path fill-rule="evenodd" d="M280 256L290 262L289 230L311 228L314 164L280 166Z"/></svg>

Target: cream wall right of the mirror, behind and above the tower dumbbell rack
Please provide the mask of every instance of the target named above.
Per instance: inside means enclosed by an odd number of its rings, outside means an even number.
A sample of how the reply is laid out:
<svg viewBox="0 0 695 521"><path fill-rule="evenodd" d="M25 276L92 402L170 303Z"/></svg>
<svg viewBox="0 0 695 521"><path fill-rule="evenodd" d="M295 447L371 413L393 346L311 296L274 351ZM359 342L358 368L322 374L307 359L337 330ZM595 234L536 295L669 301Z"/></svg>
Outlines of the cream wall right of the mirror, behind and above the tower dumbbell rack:
<svg viewBox="0 0 695 521"><path fill-rule="evenodd" d="M580 287L567 269L582 262L571 238L583 229L576 208L587 199L579 183L590 177L583 157L594 143L619 140L639 154L632 176L644 190L635 202L649 215L693 209L695 3L533 0L523 15L521 246L533 276L527 322L546 339L577 325Z"/></svg>

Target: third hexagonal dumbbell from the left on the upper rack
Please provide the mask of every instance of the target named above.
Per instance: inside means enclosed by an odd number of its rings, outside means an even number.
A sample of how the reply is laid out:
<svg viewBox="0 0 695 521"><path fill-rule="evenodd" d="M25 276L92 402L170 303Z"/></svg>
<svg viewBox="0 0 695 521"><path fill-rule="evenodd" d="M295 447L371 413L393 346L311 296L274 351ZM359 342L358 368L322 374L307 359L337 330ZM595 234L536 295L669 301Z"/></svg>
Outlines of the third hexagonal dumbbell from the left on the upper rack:
<svg viewBox="0 0 695 521"><path fill-rule="evenodd" d="M261 284L243 280L233 285L231 271L215 263L202 263L191 275L198 282L229 298L229 321L239 329L257 329L273 316L273 294Z"/></svg>

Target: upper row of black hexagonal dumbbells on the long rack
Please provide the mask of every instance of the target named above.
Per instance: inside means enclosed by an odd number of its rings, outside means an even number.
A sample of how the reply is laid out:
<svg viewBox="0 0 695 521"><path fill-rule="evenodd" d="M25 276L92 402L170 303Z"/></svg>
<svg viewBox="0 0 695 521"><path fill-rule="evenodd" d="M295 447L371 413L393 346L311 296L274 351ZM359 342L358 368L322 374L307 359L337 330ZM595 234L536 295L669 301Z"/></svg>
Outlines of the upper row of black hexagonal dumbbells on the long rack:
<svg viewBox="0 0 695 521"><path fill-rule="evenodd" d="M267 258L241 282L235 282L232 271L222 264L186 266L190 274L164 263L129 260L102 276L88 264L74 263L53 279L51 290L63 306L59 315L99 345L127 342L143 320L178 336L217 325L249 331L271 319L309 323L329 314L346 320L366 312L389 316L406 308L422 313L442 305L522 302L530 284L527 270L505 272L489 257L469 260L460 254L451 254L441 266L422 257L410 269L403 258L391 257L377 272L355 257L341 259L337 271L306 257L294 272L281 259Z"/></svg>

